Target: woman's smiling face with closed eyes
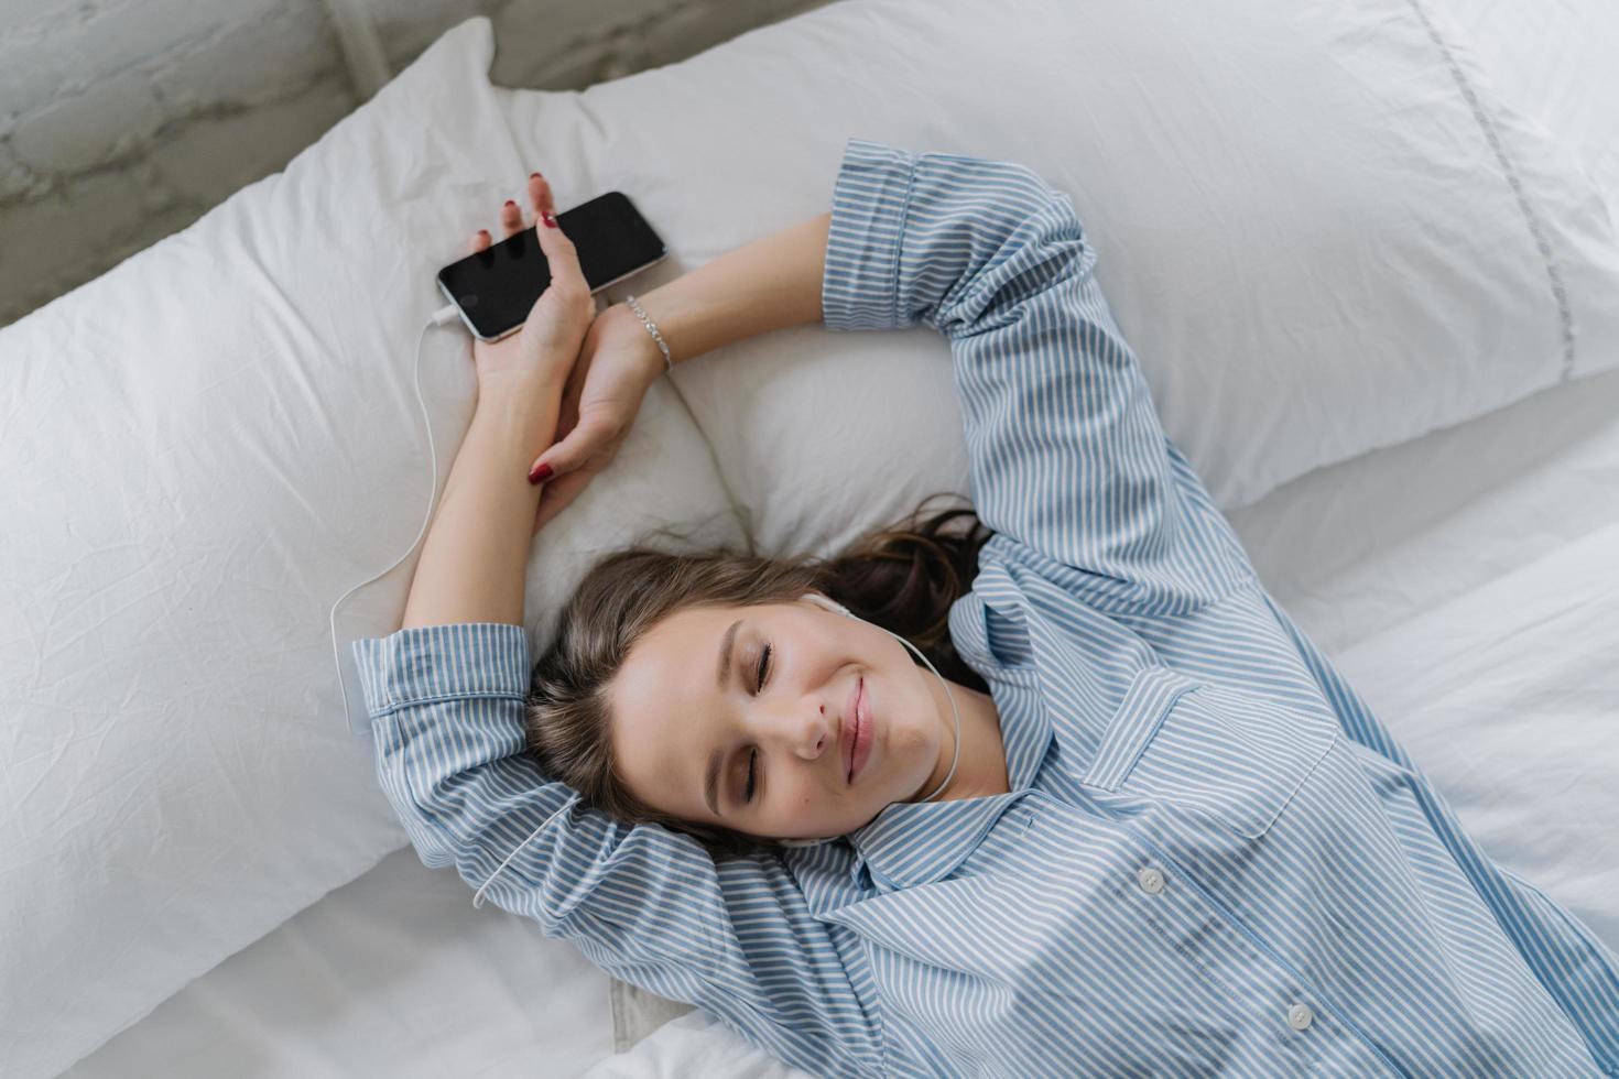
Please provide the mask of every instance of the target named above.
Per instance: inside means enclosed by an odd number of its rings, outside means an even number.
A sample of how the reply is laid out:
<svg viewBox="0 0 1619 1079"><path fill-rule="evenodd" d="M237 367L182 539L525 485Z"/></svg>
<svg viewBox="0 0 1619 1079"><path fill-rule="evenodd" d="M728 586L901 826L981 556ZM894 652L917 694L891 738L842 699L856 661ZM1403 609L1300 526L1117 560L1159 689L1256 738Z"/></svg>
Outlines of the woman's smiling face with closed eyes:
<svg viewBox="0 0 1619 1079"><path fill-rule="evenodd" d="M761 838L847 835L947 775L954 728L926 679L897 639L808 600L685 608L643 634L609 684L618 775L683 820ZM850 783L861 681L871 751Z"/></svg>

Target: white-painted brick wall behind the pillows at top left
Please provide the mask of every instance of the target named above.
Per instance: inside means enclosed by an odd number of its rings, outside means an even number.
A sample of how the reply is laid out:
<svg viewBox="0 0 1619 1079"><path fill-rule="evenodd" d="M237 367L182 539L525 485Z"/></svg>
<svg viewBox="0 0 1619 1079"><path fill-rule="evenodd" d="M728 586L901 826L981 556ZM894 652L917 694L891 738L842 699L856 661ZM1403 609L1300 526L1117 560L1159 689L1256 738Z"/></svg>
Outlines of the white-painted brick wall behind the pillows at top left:
<svg viewBox="0 0 1619 1079"><path fill-rule="evenodd" d="M0 325L278 171L439 34L583 89L829 0L0 0Z"/></svg>

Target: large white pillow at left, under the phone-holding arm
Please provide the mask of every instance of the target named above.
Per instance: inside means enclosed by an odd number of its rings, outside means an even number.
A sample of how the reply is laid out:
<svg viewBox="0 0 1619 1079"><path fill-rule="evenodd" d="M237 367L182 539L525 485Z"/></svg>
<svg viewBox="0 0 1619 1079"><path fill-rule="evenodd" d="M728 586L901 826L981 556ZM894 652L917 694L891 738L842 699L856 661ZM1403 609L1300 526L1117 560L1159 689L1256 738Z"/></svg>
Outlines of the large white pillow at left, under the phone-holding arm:
<svg viewBox="0 0 1619 1079"><path fill-rule="evenodd" d="M570 171L567 144L513 147L492 55L465 23L283 173L0 332L8 1079L58 1074L406 844L327 616L427 513L434 272L533 168ZM429 333L423 393L442 493L476 395L463 332ZM633 531L746 544L667 380L620 461L538 537L533 624ZM340 608L345 666L398 628L416 553Z"/></svg>

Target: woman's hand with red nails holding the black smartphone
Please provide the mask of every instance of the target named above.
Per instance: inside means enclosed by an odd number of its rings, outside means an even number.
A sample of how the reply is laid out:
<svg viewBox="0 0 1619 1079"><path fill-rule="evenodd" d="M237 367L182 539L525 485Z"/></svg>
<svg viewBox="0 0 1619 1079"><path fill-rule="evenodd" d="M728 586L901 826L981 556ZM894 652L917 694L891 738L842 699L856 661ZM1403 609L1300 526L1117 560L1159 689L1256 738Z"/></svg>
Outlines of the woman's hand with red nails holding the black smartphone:
<svg viewBox="0 0 1619 1079"><path fill-rule="evenodd" d="M533 217L507 199L500 210L502 239L528 228L539 239L539 249L550 267L550 283L539 294L516 333L499 341L473 338L473 364L478 367L478 391L533 393L547 387L557 393L573 369L584 332L596 317L596 298L580 269L580 256L562 228L555 226L557 204L550 184L539 173L528 178ZM549 218L550 225L546 223ZM491 244L487 230L479 230L468 243L476 254Z"/></svg>

